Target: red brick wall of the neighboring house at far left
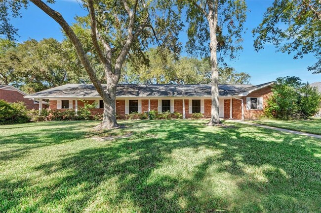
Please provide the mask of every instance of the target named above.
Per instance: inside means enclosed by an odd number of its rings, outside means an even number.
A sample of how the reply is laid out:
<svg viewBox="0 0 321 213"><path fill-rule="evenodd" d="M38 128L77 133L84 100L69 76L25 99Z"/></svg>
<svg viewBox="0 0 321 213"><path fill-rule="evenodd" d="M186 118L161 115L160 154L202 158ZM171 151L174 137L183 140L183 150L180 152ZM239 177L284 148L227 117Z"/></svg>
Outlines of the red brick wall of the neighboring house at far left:
<svg viewBox="0 0 321 213"><path fill-rule="evenodd" d="M28 98L24 98L24 95L18 91L12 90L0 90L0 99L5 100L9 103L14 102L25 102L27 109L39 109L39 104L34 104L33 100L29 100ZM42 108L45 109L46 105L42 104Z"/></svg>

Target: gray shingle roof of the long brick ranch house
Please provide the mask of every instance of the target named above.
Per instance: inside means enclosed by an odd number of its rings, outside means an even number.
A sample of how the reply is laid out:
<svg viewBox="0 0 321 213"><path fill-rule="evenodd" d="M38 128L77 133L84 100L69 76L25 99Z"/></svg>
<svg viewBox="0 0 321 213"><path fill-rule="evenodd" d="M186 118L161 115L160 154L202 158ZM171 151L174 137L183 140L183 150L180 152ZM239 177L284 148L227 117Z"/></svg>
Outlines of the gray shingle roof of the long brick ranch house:
<svg viewBox="0 0 321 213"><path fill-rule="evenodd" d="M271 84L271 82L266 83ZM263 84L265 85L265 84ZM103 85L105 86L105 85ZM244 91L253 90L262 85L219 85L219 95L229 96L239 94ZM210 97L210 85L144 85L144 84L119 84L116 92L117 97L153 97L153 96L200 96ZM92 84L66 84L49 90L40 91L25 96L27 98L92 98L100 97Z"/></svg>

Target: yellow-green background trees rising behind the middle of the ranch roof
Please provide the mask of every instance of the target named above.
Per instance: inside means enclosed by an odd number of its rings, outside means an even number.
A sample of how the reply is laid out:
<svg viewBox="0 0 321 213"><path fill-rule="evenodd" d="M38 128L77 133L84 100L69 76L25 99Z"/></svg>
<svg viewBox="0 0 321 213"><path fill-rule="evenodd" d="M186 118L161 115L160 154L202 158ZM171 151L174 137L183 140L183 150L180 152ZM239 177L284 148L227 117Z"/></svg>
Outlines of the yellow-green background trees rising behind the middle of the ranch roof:
<svg viewBox="0 0 321 213"><path fill-rule="evenodd" d="M177 57L160 53L157 48L147 52L149 65L124 66L120 83L127 84L210 84L211 66L208 58ZM219 67L219 84L246 84L250 76L232 67Z"/></svg>

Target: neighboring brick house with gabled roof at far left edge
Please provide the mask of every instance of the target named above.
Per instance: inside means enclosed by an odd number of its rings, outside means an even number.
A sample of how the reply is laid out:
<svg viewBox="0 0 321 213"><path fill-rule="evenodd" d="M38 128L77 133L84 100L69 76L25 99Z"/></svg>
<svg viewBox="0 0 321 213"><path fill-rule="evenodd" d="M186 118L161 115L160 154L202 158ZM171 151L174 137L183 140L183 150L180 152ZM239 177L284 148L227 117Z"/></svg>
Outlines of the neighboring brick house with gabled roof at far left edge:
<svg viewBox="0 0 321 213"><path fill-rule="evenodd" d="M25 102L27 109L38 109L39 102L24 98L27 94L11 85L0 85L0 99L5 100L8 103ZM46 102L43 103L43 108L46 107Z"/></svg>

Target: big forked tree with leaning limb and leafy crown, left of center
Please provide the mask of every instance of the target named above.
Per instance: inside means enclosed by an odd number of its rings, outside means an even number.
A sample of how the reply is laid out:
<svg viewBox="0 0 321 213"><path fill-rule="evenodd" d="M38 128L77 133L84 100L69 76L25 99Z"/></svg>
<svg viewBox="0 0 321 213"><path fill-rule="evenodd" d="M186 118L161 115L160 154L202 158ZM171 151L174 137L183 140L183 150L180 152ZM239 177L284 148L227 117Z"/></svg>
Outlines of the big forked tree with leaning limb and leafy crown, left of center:
<svg viewBox="0 0 321 213"><path fill-rule="evenodd" d="M182 25L177 21L180 20L180 11L173 10L172 1L84 0L82 3L89 15L83 17L81 27L90 30L94 52L90 52L89 55L97 54L103 66L107 84L103 88L75 30L69 26L59 12L50 8L45 2L30 1L62 27L75 47L90 81L104 101L103 121L98 126L99 128L119 126L115 114L116 89L122 65L128 54L143 55L143 50L156 36L156 41L160 46L168 45L175 49L174 52L179 51L176 44L178 43L178 31ZM54 3L54 0L47 0L47 2ZM27 0L0 2L0 25L4 27L1 33L5 33L10 38L10 35L16 32L16 29L9 23L8 11L11 10L13 16L18 16L19 9L27 3Z"/></svg>

